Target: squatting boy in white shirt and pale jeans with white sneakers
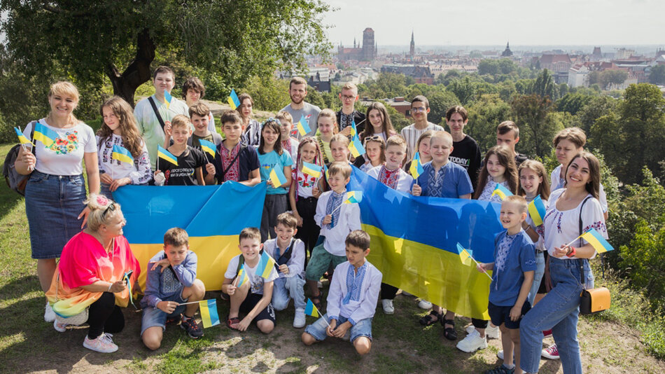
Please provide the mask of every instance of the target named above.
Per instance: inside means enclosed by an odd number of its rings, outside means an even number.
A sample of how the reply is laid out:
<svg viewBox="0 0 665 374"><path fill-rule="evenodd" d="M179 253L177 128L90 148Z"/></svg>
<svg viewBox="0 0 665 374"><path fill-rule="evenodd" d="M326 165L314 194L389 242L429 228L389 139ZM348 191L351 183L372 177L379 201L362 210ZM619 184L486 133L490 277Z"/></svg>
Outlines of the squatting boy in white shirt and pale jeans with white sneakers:
<svg viewBox="0 0 665 374"><path fill-rule="evenodd" d="M272 305L275 310L285 310L293 298L295 317L293 327L304 327L304 243L295 239L297 219L284 212L277 216L276 237L263 243L263 250L275 259L279 267L279 278L274 280Z"/></svg>

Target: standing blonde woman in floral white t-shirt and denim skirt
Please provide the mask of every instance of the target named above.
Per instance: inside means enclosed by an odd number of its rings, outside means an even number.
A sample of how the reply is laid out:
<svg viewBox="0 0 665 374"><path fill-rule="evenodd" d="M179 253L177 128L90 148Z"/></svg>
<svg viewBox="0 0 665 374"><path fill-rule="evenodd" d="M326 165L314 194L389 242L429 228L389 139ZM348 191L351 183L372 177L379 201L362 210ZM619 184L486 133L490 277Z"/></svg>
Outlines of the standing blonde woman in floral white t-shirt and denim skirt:
<svg viewBox="0 0 665 374"><path fill-rule="evenodd" d="M29 123L23 134L33 141L34 154L21 148L15 168L30 174L25 186L25 213L30 230L32 258L37 260L41 289L50 288L55 259L64 244L85 226L90 209L83 205L85 185L83 166L90 193L99 192L97 144L92 128L76 119L78 90L69 82L57 82L48 92L51 111L46 118ZM34 134L32 132L34 131ZM55 320L52 308L44 319Z"/></svg>

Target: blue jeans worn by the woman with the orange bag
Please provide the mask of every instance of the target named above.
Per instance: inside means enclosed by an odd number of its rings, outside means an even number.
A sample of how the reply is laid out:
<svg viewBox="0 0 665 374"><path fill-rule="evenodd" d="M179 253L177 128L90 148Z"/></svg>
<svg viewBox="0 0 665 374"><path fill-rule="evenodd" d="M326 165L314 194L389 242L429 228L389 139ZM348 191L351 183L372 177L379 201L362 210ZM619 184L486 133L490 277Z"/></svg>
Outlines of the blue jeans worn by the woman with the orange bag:
<svg viewBox="0 0 665 374"><path fill-rule="evenodd" d="M582 373L580 343L577 341L577 317L580 314L580 267L584 268L587 288L593 287L594 276L589 261L549 258L552 290L522 319L520 367L527 373L538 373L542 350L542 331L552 329L561 356L563 373Z"/></svg>

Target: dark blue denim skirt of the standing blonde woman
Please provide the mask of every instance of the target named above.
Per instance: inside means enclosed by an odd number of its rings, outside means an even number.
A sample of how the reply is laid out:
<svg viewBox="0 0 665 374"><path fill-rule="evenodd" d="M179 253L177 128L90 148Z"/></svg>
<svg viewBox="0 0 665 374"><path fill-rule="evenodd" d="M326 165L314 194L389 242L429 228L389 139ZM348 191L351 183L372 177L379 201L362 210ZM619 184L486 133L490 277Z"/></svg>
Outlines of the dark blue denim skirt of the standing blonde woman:
<svg viewBox="0 0 665 374"><path fill-rule="evenodd" d="M32 258L58 258L62 247L81 230L85 183L80 175L34 171L25 186L25 214Z"/></svg>

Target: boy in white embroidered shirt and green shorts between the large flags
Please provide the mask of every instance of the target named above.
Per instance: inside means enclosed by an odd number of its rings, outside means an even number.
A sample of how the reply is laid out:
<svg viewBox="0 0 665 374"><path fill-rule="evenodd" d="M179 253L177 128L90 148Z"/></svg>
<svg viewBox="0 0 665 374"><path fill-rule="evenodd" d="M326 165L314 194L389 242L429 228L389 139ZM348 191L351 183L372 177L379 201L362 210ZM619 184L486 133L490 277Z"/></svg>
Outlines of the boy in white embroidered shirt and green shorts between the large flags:
<svg viewBox="0 0 665 374"><path fill-rule="evenodd" d="M331 191L321 194L316 202L314 221L321 227L322 243L311 250L305 279L311 291L311 301L321 310L321 292L317 282L330 265L335 268L346 261L344 240L353 230L360 230L360 207L344 204L346 183L351 180L349 162L332 162L328 168L328 185Z"/></svg>

